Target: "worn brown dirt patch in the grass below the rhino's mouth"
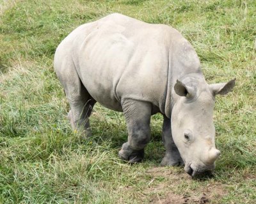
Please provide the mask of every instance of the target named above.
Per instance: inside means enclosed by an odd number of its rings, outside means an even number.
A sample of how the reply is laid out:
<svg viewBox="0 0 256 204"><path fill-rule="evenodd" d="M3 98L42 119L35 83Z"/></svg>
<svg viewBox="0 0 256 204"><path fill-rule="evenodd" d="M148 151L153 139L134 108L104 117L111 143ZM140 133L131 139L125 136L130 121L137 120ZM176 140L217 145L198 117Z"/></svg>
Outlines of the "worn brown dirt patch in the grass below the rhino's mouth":
<svg viewBox="0 0 256 204"><path fill-rule="evenodd" d="M151 197L150 203L192 204L218 203L227 192L223 184L214 180L192 180L179 169L152 168L152 176L144 194Z"/></svg>

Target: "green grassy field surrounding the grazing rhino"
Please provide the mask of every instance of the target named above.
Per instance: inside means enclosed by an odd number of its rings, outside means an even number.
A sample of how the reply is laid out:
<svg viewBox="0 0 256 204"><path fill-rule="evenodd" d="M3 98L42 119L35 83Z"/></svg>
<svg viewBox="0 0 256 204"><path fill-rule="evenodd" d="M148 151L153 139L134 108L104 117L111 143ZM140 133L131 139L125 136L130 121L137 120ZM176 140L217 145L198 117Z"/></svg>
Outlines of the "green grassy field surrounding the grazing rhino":
<svg viewBox="0 0 256 204"><path fill-rule="evenodd" d="M235 0L0 0L0 203L255 203L256 2ZM85 22L123 13L172 25L195 47L208 82L237 78L217 97L212 177L159 166L162 116L145 161L118 159L122 113L97 104L93 137L72 132L53 54ZM96 142L95 142L96 141Z"/></svg>

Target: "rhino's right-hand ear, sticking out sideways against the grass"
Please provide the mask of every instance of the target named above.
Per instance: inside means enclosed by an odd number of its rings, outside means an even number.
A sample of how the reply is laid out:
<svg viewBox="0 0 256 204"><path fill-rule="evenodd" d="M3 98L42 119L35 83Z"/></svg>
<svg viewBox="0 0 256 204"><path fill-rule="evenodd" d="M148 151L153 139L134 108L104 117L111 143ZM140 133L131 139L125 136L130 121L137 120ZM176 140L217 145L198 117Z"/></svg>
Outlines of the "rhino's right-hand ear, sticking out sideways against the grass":
<svg viewBox="0 0 256 204"><path fill-rule="evenodd" d="M229 91L232 91L235 84L236 84L236 78L228 81L227 83L210 84L209 88L212 92L212 95L214 96L217 94L225 95Z"/></svg>

